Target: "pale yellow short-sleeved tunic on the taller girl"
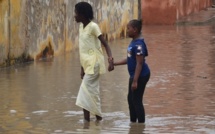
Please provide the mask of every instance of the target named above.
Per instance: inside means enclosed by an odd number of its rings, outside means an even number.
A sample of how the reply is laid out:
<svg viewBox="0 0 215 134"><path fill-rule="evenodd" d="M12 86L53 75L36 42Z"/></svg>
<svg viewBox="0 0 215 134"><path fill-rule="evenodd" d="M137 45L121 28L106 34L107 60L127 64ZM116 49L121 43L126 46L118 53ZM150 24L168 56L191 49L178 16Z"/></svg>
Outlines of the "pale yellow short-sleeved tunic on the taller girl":
<svg viewBox="0 0 215 134"><path fill-rule="evenodd" d="M83 23L79 27L79 54L80 63L85 74L94 74L96 62L99 64L99 73L106 72L105 60L98 37L102 35L99 26L95 22L90 22L87 26Z"/></svg>

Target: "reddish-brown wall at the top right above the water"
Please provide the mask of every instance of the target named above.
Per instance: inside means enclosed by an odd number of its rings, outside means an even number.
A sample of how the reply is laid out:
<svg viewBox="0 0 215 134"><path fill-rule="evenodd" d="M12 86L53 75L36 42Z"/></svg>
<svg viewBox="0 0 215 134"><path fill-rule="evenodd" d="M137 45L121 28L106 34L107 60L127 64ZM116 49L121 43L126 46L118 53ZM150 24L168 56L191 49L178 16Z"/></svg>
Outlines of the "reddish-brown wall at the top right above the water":
<svg viewBox="0 0 215 134"><path fill-rule="evenodd" d="M175 24L211 5L211 0L142 0L142 18L144 24Z"/></svg>

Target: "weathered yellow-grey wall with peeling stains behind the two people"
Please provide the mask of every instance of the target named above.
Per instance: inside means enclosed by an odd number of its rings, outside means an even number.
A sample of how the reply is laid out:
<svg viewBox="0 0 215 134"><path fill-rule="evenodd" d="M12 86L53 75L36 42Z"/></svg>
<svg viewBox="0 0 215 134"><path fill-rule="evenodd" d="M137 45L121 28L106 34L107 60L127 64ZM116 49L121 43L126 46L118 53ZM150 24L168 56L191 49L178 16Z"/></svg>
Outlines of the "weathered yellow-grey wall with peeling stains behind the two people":
<svg viewBox="0 0 215 134"><path fill-rule="evenodd" d="M80 0L0 0L0 66L59 55L77 47ZM125 36L138 0L85 0L108 40Z"/></svg>

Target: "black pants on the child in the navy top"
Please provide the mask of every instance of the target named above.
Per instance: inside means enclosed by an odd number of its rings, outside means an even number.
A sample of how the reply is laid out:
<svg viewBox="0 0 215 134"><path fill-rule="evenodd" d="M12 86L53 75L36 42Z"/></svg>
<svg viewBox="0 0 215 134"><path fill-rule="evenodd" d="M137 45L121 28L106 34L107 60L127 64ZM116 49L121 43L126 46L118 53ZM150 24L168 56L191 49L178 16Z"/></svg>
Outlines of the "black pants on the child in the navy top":
<svg viewBox="0 0 215 134"><path fill-rule="evenodd" d="M128 91L128 105L130 111L130 121L136 122L138 119L139 123L145 122L145 110L143 106L143 94L147 82L149 81L150 74L145 77L140 77L137 83L137 89L132 91L131 84L133 78L129 79L129 91Z"/></svg>

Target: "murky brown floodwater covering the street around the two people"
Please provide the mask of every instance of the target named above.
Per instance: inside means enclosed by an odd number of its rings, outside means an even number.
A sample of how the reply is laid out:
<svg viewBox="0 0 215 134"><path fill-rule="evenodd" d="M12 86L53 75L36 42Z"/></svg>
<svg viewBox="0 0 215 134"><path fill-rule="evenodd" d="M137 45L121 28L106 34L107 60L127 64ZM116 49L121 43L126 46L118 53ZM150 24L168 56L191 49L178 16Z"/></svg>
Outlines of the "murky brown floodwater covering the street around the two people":
<svg viewBox="0 0 215 134"><path fill-rule="evenodd" d="M78 51L0 70L2 134L214 134L215 26L146 26L151 79L146 123L129 122L126 66L102 75L103 121L83 121L75 105ZM115 61L130 39L110 42Z"/></svg>

